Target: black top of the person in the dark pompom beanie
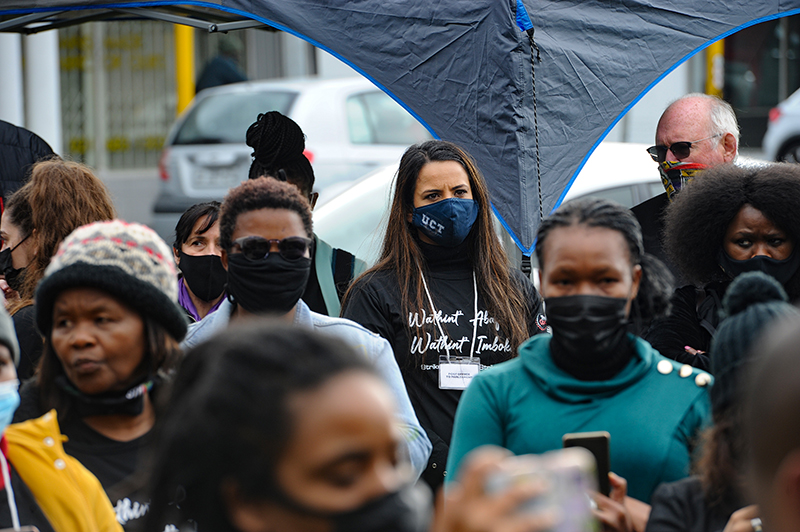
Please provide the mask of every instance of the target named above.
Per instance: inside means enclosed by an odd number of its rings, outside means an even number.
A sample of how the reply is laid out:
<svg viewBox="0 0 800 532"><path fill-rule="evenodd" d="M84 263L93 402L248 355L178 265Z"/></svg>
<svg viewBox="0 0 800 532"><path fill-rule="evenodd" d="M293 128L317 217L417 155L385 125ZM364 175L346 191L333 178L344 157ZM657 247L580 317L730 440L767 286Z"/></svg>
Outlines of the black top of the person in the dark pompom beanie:
<svg viewBox="0 0 800 532"><path fill-rule="evenodd" d="M731 514L744 506L738 501L709 506L698 477L661 484L650 503L645 532L722 532Z"/></svg>

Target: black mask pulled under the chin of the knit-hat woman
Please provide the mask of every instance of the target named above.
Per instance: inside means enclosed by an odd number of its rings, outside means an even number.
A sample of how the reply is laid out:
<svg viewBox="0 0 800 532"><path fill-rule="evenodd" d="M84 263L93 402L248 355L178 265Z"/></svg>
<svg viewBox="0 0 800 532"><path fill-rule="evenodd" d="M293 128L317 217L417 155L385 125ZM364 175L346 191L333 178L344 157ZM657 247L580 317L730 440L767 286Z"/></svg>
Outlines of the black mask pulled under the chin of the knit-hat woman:
<svg viewBox="0 0 800 532"><path fill-rule="evenodd" d="M72 397L72 406L80 418L123 414L138 416L144 412L144 396L153 388L156 379L143 377L127 390L87 395L65 375L55 378L55 384Z"/></svg>

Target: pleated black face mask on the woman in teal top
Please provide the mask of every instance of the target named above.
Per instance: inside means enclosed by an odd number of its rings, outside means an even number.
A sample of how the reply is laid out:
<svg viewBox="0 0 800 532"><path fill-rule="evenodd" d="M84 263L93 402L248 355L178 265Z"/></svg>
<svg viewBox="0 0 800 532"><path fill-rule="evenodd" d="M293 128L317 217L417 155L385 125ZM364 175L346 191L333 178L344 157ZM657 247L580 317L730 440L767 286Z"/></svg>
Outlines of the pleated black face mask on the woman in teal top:
<svg viewBox="0 0 800 532"><path fill-rule="evenodd" d="M626 339L626 298L564 296L545 299L553 344L578 358L605 357Z"/></svg>

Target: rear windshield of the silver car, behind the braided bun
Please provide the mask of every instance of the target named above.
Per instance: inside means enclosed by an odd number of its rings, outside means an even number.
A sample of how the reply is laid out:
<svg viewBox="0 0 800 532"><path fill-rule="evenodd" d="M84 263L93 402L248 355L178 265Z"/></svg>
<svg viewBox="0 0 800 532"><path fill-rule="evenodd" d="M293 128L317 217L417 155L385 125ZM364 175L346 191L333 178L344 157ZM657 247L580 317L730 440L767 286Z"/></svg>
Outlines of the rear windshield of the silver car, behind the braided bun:
<svg viewBox="0 0 800 532"><path fill-rule="evenodd" d="M289 114L296 92L228 92L201 100L186 117L173 144L243 144L259 113Z"/></svg>

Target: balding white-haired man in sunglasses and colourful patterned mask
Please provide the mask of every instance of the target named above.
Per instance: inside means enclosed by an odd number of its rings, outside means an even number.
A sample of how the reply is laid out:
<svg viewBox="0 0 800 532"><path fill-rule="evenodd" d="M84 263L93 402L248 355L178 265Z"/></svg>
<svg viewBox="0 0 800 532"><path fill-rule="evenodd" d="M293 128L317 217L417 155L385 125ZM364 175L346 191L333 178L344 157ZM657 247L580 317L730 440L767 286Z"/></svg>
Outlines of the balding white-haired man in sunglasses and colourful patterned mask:
<svg viewBox="0 0 800 532"><path fill-rule="evenodd" d="M642 226L645 251L664 261L676 277L661 248L661 218L681 187L698 171L731 163L739 148L739 125L727 102L707 94L687 94L667 107L656 128L656 145L647 149L659 165L666 192L631 210Z"/></svg>

